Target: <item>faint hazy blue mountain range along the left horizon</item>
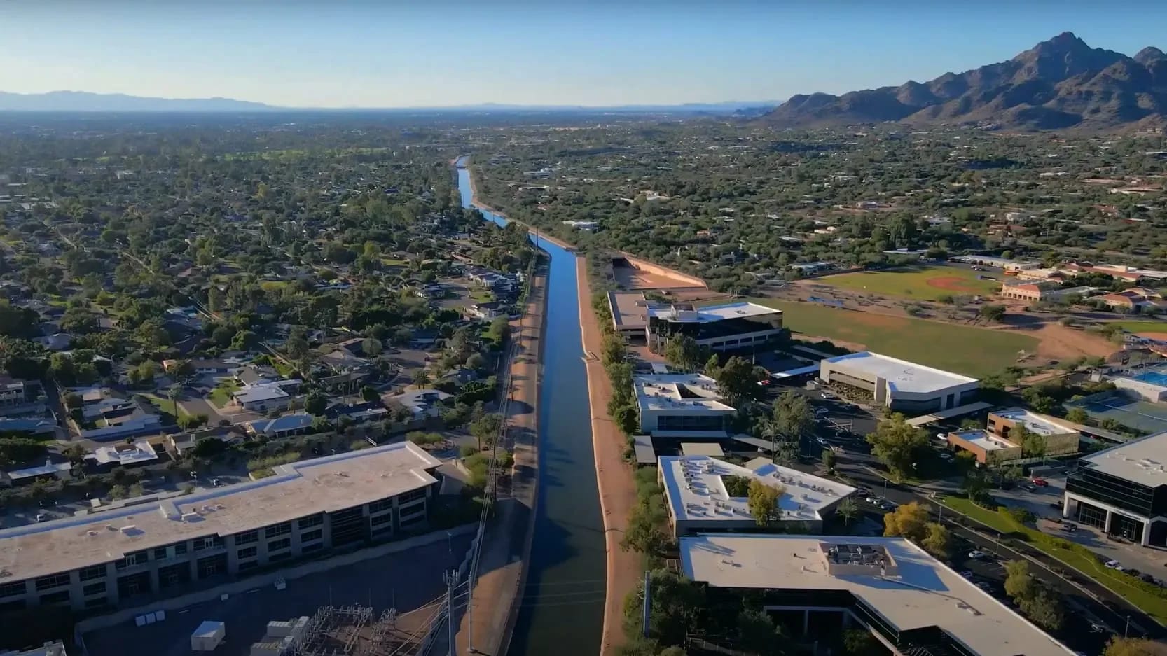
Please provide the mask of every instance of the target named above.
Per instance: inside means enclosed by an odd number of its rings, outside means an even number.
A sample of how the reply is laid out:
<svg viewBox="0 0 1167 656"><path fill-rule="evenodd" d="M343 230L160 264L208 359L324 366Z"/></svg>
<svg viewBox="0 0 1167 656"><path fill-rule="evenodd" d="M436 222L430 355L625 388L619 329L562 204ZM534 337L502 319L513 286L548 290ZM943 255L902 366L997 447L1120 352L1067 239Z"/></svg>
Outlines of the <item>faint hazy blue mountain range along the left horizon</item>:
<svg viewBox="0 0 1167 656"><path fill-rule="evenodd" d="M400 107L321 110L316 107L280 107L264 103L231 98L146 98L124 93L90 93L86 91L50 91L48 93L9 93L0 91L0 112L280 112L280 111L452 111L452 112L626 112L626 113L756 113L778 105L777 100L728 100L725 103L685 103L680 105L614 105L591 107L584 105L502 105L485 103L450 107Z"/></svg>

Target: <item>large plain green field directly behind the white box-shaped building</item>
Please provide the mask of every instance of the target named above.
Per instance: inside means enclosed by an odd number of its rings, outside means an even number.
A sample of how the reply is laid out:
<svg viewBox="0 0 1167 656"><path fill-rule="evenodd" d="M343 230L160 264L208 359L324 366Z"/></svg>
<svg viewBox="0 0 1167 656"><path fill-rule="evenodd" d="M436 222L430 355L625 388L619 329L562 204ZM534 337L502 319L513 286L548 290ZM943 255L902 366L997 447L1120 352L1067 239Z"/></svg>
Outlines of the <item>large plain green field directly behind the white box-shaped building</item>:
<svg viewBox="0 0 1167 656"><path fill-rule="evenodd" d="M810 302L749 300L781 309L784 313L783 324L795 333L862 344L875 353L967 376L995 374L1016 364L1018 351L1037 350L1036 337L1019 333Z"/></svg>

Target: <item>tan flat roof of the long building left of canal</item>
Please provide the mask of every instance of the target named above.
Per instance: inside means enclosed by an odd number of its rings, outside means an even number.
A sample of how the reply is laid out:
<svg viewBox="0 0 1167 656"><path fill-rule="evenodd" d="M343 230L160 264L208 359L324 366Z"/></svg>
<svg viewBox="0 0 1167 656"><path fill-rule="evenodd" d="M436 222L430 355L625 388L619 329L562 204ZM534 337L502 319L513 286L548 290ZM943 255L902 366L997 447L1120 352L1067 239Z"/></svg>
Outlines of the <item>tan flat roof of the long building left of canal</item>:
<svg viewBox="0 0 1167 656"><path fill-rule="evenodd" d="M436 482L426 469L440 463L399 442L281 465L275 475L247 483L15 526L0 531L0 572L8 581L68 572L133 551L352 508Z"/></svg>

